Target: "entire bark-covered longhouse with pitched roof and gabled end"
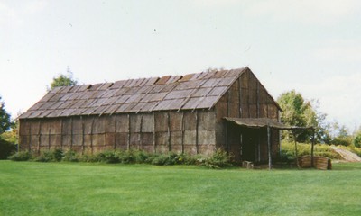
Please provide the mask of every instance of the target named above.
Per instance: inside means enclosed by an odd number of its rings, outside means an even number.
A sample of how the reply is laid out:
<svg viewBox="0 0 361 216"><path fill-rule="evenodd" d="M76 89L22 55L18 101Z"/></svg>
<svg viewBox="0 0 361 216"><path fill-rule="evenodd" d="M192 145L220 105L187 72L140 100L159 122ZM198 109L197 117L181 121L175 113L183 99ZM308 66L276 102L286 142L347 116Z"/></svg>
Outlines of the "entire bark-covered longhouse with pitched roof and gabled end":
<svg viewBox="0 0 361 216"><path fill-rule="evenodd" d="M210 155L223 148L236 161L268 161L279 131L235 122L278 121L279 105L248 68L57 87L20 117L20 148L113 149ZM227 117L227 119L226 119Z"/></svg>

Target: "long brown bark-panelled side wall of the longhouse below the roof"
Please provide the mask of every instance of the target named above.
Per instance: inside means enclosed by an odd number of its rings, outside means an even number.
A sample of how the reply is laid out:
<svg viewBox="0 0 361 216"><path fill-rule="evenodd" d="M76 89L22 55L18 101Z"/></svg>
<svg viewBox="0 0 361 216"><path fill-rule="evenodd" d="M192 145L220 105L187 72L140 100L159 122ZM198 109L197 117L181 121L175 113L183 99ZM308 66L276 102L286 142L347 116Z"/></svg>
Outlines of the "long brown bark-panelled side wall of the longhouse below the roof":
<svg viewBox="0 0 361 216"><path fill-rule="evenodd" d="M141 149L209 155L215 149L213 111L144 112L22 120L22 150L60 148L91 154Z"/></svg>

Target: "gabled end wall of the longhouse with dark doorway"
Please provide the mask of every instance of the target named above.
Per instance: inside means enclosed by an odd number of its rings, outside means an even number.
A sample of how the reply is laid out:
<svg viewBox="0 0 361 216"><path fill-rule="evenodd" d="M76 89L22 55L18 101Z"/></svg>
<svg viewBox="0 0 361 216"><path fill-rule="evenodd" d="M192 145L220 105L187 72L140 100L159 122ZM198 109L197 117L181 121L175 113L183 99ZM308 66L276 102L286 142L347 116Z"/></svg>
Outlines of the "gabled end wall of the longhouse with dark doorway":
<svg viewBox="0 0 361 216"><path fill-rule="evenodd" d="M241 161L248 157L245 154L250 154L248 150L243 151L245 138L248 141L252 139L250 145L255 146L255 150L252 152L255 161L268 160L267 133L264 130L258 130L255 134L251 132L252 137L250 137L249 130L227 125L227 122L223 120L224 117L278 120L279 109L277 105L250 70L245 71L230 87L216 104L215 112L217 148L227 150L234 155L236 161ZM276 156L280 147L278 130L273 130L271 137L273 156Z"/></svg>

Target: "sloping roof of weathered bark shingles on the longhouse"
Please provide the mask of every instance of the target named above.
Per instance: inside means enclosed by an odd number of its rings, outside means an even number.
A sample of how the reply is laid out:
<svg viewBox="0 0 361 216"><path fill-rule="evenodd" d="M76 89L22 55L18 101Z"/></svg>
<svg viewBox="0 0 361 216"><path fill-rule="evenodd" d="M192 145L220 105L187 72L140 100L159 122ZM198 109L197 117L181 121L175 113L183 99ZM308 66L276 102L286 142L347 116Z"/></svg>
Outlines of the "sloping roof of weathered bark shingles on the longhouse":
<svg viewBox="0 0 361 216"><path fill-rule="evenodd" d="M247 69L56 87L19 118L211 109Z"/></svg>

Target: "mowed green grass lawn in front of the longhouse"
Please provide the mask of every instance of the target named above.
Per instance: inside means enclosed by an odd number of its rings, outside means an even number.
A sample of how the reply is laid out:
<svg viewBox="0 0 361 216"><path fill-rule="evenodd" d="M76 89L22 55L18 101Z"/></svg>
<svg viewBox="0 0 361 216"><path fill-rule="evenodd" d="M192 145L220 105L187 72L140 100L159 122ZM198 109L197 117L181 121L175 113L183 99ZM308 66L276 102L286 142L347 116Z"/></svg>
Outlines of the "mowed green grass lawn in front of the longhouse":
<svg viewBox="0 0 361 216"><path fill-rule="evenodd" d="M0 161L0 215L361 215L361 164L333 167Z"/></svg>

